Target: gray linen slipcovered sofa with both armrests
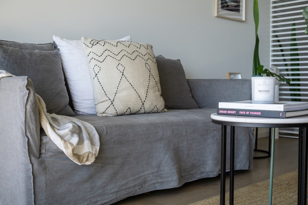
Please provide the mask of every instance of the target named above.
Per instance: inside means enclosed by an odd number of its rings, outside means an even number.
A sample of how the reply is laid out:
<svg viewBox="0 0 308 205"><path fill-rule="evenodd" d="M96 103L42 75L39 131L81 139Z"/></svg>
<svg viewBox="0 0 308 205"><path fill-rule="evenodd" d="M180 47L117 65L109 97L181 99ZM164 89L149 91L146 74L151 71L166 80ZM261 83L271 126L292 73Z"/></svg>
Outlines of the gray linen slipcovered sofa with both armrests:
<svg viewBox="0 0 308 205"><path fill-rule="evenodd" d="M19 68L4 61L2 57L0 69L16 77L0 80L0 204L112 204L144 192L215 177L220 173L221 126L211 122L210 114L216 112L219 101L251 99L248 79L195 79L185 83L197 108L112 117L73 116L92 124L100 137L95 162L78 165L40 128L35 93L38 90L46 95L37 79L32 80L37 76L32 71L28 71L32 78L19 76ZM157 65L164 67L162 62ZM45 73L39 81L44 83L47 77L51 75ZM168 83L161 84L163 95ZM172 101L170 97L165 99ZM185 100L176 102L179 107L181 101ZM239 127L235 136L235 169L250 169L253 130Z"/></svg>

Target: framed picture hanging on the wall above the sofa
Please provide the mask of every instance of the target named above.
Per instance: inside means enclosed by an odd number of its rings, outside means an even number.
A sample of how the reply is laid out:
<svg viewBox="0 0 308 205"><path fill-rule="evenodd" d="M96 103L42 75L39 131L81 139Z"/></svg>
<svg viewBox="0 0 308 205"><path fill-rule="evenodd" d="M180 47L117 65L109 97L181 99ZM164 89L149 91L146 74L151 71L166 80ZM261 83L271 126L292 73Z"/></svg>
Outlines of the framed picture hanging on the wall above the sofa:
<svg viewBox="0 0 308 205"><path fill-rule="evenodd" d="M215 0L215 16L236 21L245 21L246 0Z"/></svg>

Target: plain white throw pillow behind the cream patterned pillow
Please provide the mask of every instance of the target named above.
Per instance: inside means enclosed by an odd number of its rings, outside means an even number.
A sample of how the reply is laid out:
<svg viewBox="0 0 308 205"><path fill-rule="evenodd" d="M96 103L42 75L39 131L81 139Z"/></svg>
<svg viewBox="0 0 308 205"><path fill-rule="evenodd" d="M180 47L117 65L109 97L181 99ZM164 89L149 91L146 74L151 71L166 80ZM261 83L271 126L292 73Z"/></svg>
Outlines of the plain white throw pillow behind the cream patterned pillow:
<svg viewBox="0 0 308 205"><path fill-rule="evenodd" d="M93 89L81 40L68 40L53 36L60 49L61 61L70 89L75 113L95 115ZM131 41L127 36L118 41Z"/></svg>

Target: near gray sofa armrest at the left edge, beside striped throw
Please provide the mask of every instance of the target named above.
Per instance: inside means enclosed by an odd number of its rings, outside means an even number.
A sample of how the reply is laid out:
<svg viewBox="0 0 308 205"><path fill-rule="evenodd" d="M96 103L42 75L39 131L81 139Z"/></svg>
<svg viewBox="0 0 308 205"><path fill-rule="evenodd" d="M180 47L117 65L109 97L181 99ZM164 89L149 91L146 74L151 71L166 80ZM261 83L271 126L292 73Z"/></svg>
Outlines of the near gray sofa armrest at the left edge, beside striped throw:
<svg viewBox="0 0 308 205"><path fill-rule="evenodd" d="M0 204L33 204L40 124L32 81L3 77L0 105Z"/></svg>

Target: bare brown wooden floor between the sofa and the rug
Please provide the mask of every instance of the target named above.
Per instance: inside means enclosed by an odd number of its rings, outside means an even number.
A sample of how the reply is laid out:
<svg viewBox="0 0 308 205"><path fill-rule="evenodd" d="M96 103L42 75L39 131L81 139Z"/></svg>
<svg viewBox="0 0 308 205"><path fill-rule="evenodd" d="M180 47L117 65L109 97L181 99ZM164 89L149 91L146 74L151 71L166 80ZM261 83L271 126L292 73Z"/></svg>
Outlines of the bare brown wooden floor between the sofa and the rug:
<svg viewBox="0 0 308 205"><path fill-rule="evenodd" d="M258 149L268 150L268 138L258 140ZM255 152L257 155L264 153ZM279 138L275 140L274 177L298 168L298 139ZM234 188L257 183L270 176L270 158L254 159L253 169L236 171ZM229 181L226 182L227 187ZM229 188L226 189L229 191ZM114 205L187 205L220 193L220 178L199 179L183 186L167 190L151 191L124 199Z"/></svg>

